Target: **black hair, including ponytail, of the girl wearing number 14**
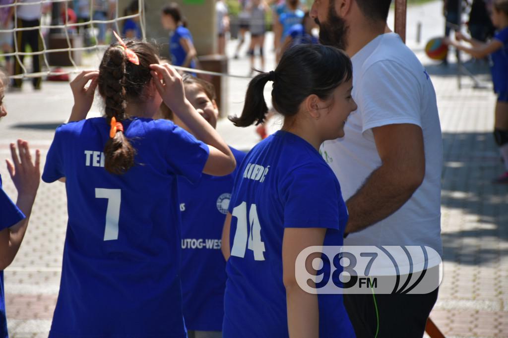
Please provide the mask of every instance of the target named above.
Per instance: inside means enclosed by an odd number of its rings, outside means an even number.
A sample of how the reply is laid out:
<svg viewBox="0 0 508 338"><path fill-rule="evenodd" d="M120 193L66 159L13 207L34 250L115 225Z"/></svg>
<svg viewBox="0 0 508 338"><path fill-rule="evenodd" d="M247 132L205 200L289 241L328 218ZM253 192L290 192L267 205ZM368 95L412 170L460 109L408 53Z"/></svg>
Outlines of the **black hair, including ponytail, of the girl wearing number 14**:
<svg viewBox="0 0 508 338"><path fill-rule="evenodd" d="M327 99L352 77L351 60L338 48L323 45L289 48L273 73L261 73L249 82L241 116L229 119L238 127L263 123L268 112L263 91L270 80L273 108L287 117L298 113L307 96L315 94Z"/></svg>

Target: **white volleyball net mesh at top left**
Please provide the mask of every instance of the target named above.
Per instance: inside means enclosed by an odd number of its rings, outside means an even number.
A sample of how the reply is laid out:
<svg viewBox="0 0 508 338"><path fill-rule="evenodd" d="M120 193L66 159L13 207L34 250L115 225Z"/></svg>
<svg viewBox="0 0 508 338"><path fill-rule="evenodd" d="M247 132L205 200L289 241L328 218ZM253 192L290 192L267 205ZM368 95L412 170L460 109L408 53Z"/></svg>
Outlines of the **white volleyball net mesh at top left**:
<svg viewBox="0 0 508 338"><path fill-rule="evenodd" d="M3 57L6 60L10 57L14 63L13 71L9 77L12 79L39 78L50 75L61 75L80 72L82 69L81 53L96 53L102 57L107 39L105 40L105 31L108 28L116 30L119 34L122 32L123 24L126 20L136 20L139 27L139 33L142 40L146 40L144 0L135 0L130 5L137 2L137 13L124 13L119 15L122 10L117 1L113 0L0 0L0 15L2 22L0 25L0 35L12 35L12 48L6 52ZM101 6L107 6L103 9ZM78 7L88 8L89 17L85 20L77 20ZM131 7L131 6L129 6ZM73 14L74 12L74 14ZM100 13L101 15L96 15ZM73 19L76 20L73 20ZM80 18L82 19L82 18ZM12 22L9 24L9 22ZM33 25L37 23L37 25ZM39 50L26 50L27 33L30 32L31 39L37 33ZM60 45L52 46L51 41L58 36ZM108 37L111 37L108 31ZM85 45L76 43L83 41ZM5 44L5 41L4 41ZM53 44L54 45L54 44ZM56 64L52 61L51 53L67 53L69 67L54 72ZM32 58L32 67L23 63L25 56ZM36 58L38 60L36 61ZM35 71L34 64L39 63L39 71ZM80 69L81 67L81 69ZM9 71L9 70L8 70Z"/></svg>

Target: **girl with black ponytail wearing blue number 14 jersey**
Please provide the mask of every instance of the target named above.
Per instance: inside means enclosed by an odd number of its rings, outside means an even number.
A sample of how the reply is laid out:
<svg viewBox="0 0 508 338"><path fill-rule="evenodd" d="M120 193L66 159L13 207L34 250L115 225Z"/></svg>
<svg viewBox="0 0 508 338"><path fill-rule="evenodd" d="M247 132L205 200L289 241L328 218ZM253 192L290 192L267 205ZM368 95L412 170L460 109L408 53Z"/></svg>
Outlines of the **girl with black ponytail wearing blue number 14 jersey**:
<svg viewBox="0 0 508 338"><path fill-rule="evenodd" d="M231 118L237 126L263 122L268 81L284 123L238 168L223 232L229 258L223 334L353 337L342 295L306 293L295 276L296 257L304 248L342 245L347 210L319 147L344 136L345 120L357 108L351 61L334 47L288 49L275 71L249 83L242 115ZM298 268L315 275L312 266Z"/></svg>

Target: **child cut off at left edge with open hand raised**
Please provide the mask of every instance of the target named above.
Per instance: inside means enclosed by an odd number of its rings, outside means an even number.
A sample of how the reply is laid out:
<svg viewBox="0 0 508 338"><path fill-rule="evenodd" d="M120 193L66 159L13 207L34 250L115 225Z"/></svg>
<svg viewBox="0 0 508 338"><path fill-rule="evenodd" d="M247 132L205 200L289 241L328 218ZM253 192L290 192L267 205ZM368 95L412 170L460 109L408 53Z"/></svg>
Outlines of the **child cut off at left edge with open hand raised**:
<svg viewBox="0 0 508 338"><path fill-rule="evenodd" d="M0 118L7 115L4 106L4 80L0 77ZM12 162L7 161L7 170L18 191L16 204L2 189L0 176L0 338L9 338L5 309L4 269L16 257L28 227L31 209L34 205L41 174L39 171L41 154L35 152L35 163L32 162L28 143L18 140L11 143ZM19 154L19 155L18 155Z"/></svg>

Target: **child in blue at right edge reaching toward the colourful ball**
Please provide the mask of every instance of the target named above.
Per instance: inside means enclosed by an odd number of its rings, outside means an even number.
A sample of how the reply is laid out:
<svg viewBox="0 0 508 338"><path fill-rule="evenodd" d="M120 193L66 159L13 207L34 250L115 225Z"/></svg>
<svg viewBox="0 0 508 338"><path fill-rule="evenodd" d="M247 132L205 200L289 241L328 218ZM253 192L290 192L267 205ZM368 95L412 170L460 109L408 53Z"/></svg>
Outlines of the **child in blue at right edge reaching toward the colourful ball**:
<svg viewBox="0 0 508 338"><path fill-rule="evenodd" d="M505 172L493 183L508 184L508 0L494 0L491 19L497 32L490 42L482 42L456 33L458 41L464 40L471 46L456 41L445 41L475 58L490 57L492 82L497 94L495 108L494 138L504 160Z"/></svg>

